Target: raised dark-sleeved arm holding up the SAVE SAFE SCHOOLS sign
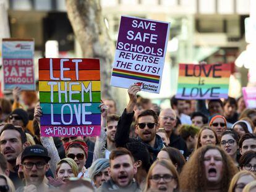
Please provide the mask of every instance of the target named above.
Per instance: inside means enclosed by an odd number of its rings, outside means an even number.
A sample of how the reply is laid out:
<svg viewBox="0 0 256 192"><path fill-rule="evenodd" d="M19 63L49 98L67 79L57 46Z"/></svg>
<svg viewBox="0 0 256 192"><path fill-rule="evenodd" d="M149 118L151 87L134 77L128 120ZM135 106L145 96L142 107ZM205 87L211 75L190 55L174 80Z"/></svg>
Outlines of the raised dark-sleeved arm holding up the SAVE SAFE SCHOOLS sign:
<svg viewBox="0 0 256 192"><path fill-rule="evenodd" d="M134 117L134 107L137 102L137 93L140 91L140 86L131 85L128 89L129 102L122 113L116 130L116 136L114 138L116 147L125 147L126 143L129 142L130 125Z"/></svg>

